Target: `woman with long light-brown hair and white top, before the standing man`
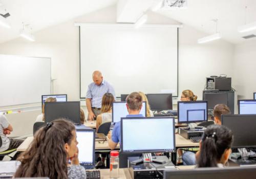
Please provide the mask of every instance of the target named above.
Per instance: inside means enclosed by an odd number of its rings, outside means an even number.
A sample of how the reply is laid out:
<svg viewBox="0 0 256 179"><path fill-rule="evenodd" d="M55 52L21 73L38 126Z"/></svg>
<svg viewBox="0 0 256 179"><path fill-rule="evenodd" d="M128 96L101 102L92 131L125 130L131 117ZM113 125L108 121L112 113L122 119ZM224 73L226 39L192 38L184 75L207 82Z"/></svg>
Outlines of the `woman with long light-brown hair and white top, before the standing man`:
<svg viewBox="0 0 256 179"><path fill-rule="evenodd" d="M112 121L112 103L115 101L111 93L105 93L101 101L101 114L96 118L96 131L100 124Z"/></svg>

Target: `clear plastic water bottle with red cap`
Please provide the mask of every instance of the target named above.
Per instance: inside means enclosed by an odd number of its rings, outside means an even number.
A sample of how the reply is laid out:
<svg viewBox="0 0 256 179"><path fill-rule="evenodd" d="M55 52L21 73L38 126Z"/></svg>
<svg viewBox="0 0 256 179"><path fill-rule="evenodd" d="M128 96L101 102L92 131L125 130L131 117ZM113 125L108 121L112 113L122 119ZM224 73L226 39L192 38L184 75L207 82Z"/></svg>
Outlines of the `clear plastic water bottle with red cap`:
<svg viewBox="0 0 256 179"><path fill-rule="evenodd" d="M110 152L110 178L119 178L119 152L116 150Z"/></svg>

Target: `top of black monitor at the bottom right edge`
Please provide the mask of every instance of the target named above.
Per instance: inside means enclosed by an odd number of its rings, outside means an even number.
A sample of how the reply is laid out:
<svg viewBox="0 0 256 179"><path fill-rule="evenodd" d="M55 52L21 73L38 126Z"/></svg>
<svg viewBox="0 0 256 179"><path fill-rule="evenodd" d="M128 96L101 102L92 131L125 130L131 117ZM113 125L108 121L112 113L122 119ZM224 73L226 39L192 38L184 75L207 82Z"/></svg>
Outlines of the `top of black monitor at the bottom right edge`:
<svg viewBox="0 0 256 179"><path fill-rule="evenodd" d="M255 178L256 167L207 167L193 170L164 170L165 179L241 179L244 177Z"/></svg>

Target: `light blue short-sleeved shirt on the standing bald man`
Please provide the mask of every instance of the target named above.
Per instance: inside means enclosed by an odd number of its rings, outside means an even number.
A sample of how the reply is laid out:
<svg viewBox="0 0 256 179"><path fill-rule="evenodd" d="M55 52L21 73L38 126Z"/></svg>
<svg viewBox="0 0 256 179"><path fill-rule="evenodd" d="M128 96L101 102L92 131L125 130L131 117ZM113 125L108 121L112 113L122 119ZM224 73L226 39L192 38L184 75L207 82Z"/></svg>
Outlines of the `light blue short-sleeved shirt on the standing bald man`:
<svg viewBox="0 0 256 179"><path fill-rule="evenodd" d="M115 90L110 83L103 80L98 86L97 84L92 82L88 85L86 98L92 99L92 107L101 108L101 100L105 93L111 93L115 97Z"/></svg>

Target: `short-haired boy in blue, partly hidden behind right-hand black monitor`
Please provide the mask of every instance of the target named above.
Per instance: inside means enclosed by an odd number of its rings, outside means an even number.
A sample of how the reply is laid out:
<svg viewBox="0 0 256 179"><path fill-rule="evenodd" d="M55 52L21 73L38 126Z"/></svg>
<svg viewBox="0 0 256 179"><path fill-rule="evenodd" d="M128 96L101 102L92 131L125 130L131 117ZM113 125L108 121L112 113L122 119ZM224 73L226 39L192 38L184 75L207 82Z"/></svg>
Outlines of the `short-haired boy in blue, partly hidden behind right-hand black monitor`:
<svg viewBox="0 0 256 179"><path fill-rule="evenodd" d="M215 123L221 125L221 115L230 114L230 109L225 104L217 104L214 106ZM182 155L183 165L196 165L196 155L194 152L185 151Z"/></svg>

